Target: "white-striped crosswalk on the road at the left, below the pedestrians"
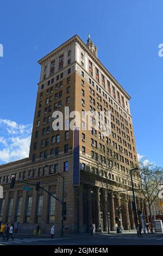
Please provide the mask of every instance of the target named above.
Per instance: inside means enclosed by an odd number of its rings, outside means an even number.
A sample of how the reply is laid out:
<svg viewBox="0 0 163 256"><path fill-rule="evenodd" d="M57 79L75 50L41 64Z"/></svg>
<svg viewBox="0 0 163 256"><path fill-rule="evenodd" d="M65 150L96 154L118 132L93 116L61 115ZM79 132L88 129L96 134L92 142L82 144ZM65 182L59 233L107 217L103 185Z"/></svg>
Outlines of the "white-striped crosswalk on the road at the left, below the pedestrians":
<svg viewBox="0 0 163 256"><path fill-rule="evenodd" d="M67 239L67 238L65 238ZM59 237L56 237L53 239L53 241L56 241L56 240L60 240ZM29 238L29 239L15 239L15 240L9 240L9 241L1 241L0 240L0 245L17 245L17 244L21 244L21 243L36 243L36 242L46 242L46 241L52 241L51 238L38 238L38 239L34 239L34 238Z"/></svg>

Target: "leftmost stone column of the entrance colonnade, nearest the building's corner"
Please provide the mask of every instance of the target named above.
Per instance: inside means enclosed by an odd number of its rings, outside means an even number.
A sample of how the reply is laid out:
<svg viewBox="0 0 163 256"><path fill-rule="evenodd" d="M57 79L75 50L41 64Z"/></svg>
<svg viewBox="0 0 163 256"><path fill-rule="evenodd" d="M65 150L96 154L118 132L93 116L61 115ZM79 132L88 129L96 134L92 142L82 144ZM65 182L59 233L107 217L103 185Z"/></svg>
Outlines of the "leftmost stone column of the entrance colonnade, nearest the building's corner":
<svg viewBox="0 0 163 256"><path fill-rule="evenodd" d="M83 233L84 232L84 215L83 215L83 186L81 185L79 187L78 191L79 195L79 201L78 201L78 232Z"/></svg>

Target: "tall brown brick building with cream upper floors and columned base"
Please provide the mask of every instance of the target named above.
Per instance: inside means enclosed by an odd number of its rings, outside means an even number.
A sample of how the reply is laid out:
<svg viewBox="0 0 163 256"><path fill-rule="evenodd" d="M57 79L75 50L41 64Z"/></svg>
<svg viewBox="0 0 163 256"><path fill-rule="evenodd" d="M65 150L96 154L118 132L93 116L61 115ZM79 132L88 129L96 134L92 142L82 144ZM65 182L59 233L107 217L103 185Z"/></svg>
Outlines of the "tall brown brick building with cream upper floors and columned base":
<svg viewBox="0 0 163 256"><path fill-rule="evenodd" d="M115 80L97 57L97 47L89 38L85 44L78 35L64 42L39 60L41 65L38 83L35 115L29 157L0 166L0 181L4 187L4 199L0 199L0 221L19 222L21 231L32 232L37 224L43 233L55 224L59 231L61 203L48 196L45 191L22 190L16 182L10 188L11 175L18 180L35 183L62 197L62 178L65 176L65 227L70 232L86 232L90 223L99 231L106 230L106 212L103 210L104 188L98 175L88 178L90 167L96 155L96 148L105 149L111 145L121 151L120 163L112 170L110 182L131 186L129 179L117 180L119 173L127 174L137 163L132 118L129 109L130 96ZM54 111L65 114L68 111L111 111L111 135L103 137L101 131L72 130L54 131ZM107 121L107 116L105 117ZM66 123L66 122L65 122ZM84 121L81 121L83 127ZM79 154L75 152L79 144ZM77 163L80 163L79 166ZM139 188L139 179L134 174L134 186ZM78 184L79 182L79 184ZM110 196L110 228L116 227L116 209L122 205L122 195ZM146 206L143 198L137 198L137 208ZM146 207L145 214L146 214ZM131 200L128 207L122 205L121 226L134 228ZM141 220L140 220L141 221Z"/></svg>

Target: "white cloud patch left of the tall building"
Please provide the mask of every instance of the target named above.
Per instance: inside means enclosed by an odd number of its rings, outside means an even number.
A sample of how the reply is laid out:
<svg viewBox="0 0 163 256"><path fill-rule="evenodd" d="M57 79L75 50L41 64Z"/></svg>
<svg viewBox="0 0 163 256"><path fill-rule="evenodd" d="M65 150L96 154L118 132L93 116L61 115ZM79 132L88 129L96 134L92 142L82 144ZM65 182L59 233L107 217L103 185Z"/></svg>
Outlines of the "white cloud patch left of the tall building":
<svg viewBox="0 0 163 256"><path fill-rule="evenodd" d="M17 124L0 119L0 164L23 159L29 155L31 124Z"/></svg>

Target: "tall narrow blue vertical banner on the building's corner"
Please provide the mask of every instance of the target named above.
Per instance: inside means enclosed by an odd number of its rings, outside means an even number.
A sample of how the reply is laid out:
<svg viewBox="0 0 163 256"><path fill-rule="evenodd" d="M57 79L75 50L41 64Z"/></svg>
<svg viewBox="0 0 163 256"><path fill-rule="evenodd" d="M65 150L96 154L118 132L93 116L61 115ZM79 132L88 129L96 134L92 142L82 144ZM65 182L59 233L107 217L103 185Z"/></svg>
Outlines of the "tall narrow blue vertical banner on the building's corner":
<svg viewBox="0 0 163 256"><path fill-rule="evenodd" d="M80 185L79 127L73 128L73 186Z"/></svg>

